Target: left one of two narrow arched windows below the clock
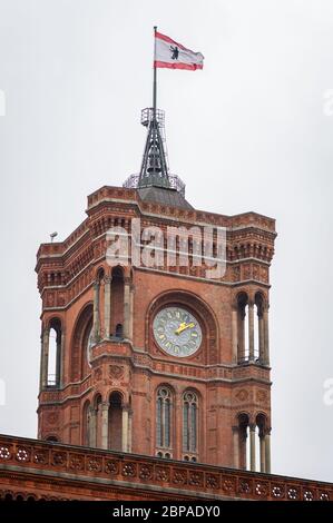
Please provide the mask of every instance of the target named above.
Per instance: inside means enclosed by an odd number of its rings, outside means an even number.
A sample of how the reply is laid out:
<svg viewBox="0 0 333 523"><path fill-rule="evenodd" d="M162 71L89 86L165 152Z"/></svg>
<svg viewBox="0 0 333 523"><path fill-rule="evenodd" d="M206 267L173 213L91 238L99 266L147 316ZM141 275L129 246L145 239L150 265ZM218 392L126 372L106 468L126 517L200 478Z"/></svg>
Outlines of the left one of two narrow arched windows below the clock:
<svg viewBox="0 0 333 523"><path fill-rule="evenodd" d="M168 387L159 387L156 398L156 445L172 446L172 393Z"/></svg>

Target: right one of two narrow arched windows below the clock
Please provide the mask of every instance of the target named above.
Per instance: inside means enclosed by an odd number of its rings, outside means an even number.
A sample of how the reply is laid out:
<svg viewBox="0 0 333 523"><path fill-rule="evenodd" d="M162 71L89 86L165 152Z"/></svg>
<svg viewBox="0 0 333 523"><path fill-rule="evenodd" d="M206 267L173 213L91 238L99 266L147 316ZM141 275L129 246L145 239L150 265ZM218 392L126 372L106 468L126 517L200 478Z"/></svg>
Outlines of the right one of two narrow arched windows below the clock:
<svg viewBox="0 0 333 523"><path fill-rule="evenodd" d="M197 453L198 398L187 391L183 396L183 451Z"/></svg>

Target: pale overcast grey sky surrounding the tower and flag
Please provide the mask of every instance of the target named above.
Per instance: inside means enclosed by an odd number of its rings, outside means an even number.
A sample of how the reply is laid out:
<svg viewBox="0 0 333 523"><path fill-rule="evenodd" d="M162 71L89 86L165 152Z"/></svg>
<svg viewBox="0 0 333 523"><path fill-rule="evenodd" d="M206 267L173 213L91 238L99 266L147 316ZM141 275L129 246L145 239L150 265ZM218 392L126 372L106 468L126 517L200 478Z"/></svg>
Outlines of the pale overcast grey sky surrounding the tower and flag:
<svg viewBox="0 0 333 523"><path fill-rule="evenodd" d="M276 218L272 470L333 481L330 0L0 0L0 432L36 436L39 244L139 169L154 24L205 56L203 71L158 71L187 199Z"/></svg>

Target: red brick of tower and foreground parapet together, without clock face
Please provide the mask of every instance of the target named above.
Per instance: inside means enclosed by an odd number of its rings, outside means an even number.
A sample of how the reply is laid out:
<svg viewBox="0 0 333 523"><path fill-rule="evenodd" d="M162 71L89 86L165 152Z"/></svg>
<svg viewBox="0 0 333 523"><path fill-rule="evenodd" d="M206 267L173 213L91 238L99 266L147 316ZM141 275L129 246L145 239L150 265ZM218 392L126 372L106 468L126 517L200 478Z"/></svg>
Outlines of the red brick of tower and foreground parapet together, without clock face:
<svg viewBox="0 0 333 523"><path fill-rule="evenodd" d="M117 187L89 196L87 215L65 241L38 250L38 440L0 435L0 500L332 500L332 484L271 474L274 220L145 201ZM168 266L164 244L159 268L130 256L110 266L107 231L130 234L133 218L164 230L225 227L224 276L207 279L179 257ZM156 343L153 322L168 306L200 326L190 356Z"/></svg>

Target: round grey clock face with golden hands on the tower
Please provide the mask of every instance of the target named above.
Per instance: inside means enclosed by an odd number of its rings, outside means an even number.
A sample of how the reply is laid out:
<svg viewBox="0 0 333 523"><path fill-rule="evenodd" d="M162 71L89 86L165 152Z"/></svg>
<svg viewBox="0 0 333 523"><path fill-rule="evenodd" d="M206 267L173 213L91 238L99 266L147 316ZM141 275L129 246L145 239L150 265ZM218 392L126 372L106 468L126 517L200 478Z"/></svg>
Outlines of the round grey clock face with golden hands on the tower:
<svg viewBox="0 0 333 523"><path fill-rule="evenodd" d="M165 307L157 313L153 323L156 343L172 356L192 356L203 341L197 319L182 307Z"/></svg>

